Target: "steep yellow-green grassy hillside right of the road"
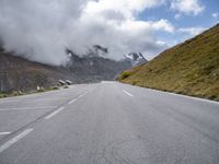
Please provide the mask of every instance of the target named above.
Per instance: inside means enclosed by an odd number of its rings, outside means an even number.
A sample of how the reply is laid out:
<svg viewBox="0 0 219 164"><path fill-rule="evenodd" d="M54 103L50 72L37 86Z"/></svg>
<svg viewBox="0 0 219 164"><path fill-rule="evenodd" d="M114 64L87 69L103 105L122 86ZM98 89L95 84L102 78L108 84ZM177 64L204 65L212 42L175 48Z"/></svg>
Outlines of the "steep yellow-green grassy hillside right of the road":
<svg viewBox="0 0 219 164"><path fill-rule="evenodd" d="M219 101L219 24L152 61L123 72L118 80Z"/></svg>

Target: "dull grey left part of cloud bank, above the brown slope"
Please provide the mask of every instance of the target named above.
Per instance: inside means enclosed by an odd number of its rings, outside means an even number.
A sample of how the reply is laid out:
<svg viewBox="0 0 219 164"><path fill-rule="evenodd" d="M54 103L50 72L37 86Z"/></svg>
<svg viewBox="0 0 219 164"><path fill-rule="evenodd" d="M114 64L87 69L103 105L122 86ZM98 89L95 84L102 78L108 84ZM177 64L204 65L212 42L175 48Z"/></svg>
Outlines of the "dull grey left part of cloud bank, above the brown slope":
<svg viewBox="0 0 219 164"><path fill-rule="evenodd" d="M84 2L0 1L0 37L4 48L34 61L65 63L65 36Z"/></svg>

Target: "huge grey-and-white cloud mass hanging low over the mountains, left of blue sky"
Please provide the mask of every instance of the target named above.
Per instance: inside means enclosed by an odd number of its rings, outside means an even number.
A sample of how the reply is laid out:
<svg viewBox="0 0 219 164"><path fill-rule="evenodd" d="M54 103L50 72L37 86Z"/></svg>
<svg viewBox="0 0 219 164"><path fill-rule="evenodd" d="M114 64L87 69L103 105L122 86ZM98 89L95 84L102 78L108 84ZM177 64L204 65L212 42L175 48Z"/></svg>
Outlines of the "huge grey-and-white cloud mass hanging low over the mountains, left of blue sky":
<svg viewBox="0 0 219 164"><path fill-rule="evenodd" d="M166 20L137 21L135 15L163 0L1 0L0 38L8 51L30 60L65 65L68 47L84 55L93 45L108 48L108 58L141 51L157 55L166 45L158 31L173 33ZM146 57L147 57L146 56Z"/></svg>

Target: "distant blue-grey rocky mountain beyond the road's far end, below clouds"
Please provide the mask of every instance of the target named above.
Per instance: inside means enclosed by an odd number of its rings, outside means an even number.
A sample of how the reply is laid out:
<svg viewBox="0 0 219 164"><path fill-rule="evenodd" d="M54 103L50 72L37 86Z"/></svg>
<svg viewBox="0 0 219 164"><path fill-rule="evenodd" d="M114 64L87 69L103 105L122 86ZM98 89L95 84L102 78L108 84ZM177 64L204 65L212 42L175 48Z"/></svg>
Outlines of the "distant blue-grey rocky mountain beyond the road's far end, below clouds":
<svg viewBox="0 0 219 164"><path fill-rule="evenodd" d="M77 56L70 49L67 49L67 54L71 56L67 69L79 78L78 83L115 80L120 72L131 68L131 63L127 60L115 61L103 58L103 54L100 56L95 51L82 57Z"/></svg>

